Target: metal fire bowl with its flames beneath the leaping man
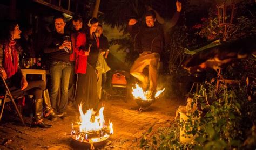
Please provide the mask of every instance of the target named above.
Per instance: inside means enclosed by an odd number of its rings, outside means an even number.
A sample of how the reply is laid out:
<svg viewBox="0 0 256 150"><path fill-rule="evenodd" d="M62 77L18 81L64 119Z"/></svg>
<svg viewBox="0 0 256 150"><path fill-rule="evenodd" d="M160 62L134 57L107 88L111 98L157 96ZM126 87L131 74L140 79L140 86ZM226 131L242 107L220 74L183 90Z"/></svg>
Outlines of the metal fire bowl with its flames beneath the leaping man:
<svg viewBox="0 0 256 150"><path fill-rule="evenodd" d="M136 88L132 88L133 90L132 94L136 103L139 106L139 112L142 110L148 109L151 106L151 104L155 102L155 99L157 99L159 95L165 90L165 89L159 90L156 92L153 99L147 99L148 97L147 95L149 95L149 91L143 91L143 89L139 87L138 84L136 84L135 86Z"/></svg>

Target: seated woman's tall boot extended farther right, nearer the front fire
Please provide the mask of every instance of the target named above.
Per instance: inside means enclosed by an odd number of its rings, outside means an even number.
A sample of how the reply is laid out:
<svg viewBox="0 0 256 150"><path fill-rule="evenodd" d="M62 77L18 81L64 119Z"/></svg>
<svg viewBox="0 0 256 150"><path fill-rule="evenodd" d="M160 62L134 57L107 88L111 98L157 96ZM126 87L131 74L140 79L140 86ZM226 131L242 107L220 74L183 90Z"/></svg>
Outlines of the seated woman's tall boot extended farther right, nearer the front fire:
<svg viewBox="0 0 256 150"><path fill-rule="evenodd" d="M44 117L47 117L50 120L53 120L54 118L63 116L63 113L56 113L54 109L51 107L51 100L50 100L48 89L43 91L43 98L44 98L43 105L45 108Z"/></svg>

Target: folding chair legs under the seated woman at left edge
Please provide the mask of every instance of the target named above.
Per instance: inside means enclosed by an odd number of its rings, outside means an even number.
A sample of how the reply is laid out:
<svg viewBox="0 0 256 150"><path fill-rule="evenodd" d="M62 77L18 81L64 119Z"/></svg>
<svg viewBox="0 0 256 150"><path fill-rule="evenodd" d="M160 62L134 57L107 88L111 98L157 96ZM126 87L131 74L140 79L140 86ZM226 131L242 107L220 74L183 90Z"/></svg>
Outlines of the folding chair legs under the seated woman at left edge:
<svg viewBox="0 0 256 150"><path fill-rule="evenodd" d="M11 101L12 104L14 104L14 107L15 107L16 112L18 113L19 119L21 119L22 124L25 125L25 122L24 122L24 120L22 118L22 115L19 112L19 110L17 108L17 105L16 105L16 103L14 101L14 97L12 97L11 92L10 92L10 90L9 90L9 88L8 88L8 86L7 86L6 82L5 82L2 74L0 74L0 76L1 76L1 79L2 79L2 81L4 83L4 87L5 87L5 95L4 95L4 97L0 98L1 99L1 103L0 103L1 105L0 106L2 107L1 108L1 113L0 113L0 121L2 120L2 115L3 115L5 103Z"/></svg>

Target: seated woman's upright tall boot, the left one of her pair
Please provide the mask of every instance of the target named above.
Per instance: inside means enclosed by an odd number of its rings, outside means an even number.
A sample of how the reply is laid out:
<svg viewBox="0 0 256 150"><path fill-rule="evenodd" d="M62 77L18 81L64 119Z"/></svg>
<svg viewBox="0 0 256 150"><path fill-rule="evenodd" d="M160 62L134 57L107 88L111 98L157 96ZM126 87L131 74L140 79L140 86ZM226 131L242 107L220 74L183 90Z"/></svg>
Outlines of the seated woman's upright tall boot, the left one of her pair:
<svg viewBox="0 0 256 150"><path fill-rule="evenodd" d="M41 116L43 112L43 98L35 99L33 107L34 115L31 127L50 128L51 125L45 124Z"/></svg>

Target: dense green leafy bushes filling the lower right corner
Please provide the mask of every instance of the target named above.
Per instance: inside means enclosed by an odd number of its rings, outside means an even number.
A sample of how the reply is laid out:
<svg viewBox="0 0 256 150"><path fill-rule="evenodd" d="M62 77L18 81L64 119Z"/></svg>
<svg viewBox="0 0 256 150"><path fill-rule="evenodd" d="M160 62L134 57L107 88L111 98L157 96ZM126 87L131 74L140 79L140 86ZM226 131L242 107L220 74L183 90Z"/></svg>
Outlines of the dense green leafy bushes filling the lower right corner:
<svg viewBox="0 0 256 150"><path fill-rule="evenodd" d="M244 149L256 146L256 104L247 100L245 87L222 85L215 89L213 85L205 84L194 95L191 108L193 106L198 109L187 113L187 120L181 120L180 124L172 122L166 132L154 134L147 146L158 149ZM191 143L179 143L177 131L181 126L186 128L185 137L195 137Z"/></svg>

